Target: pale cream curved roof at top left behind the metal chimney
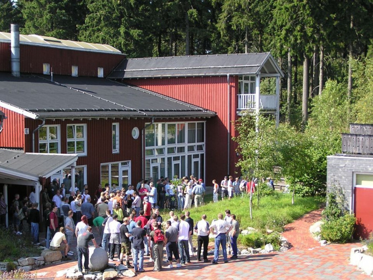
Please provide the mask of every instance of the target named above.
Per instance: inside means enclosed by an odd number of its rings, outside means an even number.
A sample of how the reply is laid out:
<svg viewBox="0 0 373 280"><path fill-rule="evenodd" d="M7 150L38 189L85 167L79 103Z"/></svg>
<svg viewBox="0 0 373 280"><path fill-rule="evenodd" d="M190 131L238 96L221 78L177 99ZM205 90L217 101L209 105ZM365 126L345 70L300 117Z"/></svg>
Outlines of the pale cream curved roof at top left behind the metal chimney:
<svg viewBox="0 0 373 280"><path fill-rule="evenodd" d="M0 32L0 42L10 43L10 33ZM36 45L42 47L59 48L59 49L72 49L79 51L90 51L90 52L104 52L104 53L115 53L121 54L121 52L110 45L105 44L94 44L77 42L70 40L57 39L54 37L40 36L40 35L19 35L20 45Z"/></svg>

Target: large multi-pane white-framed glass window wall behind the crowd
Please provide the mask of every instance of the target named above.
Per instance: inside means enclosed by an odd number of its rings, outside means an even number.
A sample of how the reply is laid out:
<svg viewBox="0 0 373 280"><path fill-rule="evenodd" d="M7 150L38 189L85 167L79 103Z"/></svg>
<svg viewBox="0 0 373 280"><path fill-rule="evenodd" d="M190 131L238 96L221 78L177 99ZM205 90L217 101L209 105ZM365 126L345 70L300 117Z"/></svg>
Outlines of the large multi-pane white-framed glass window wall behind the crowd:
<svg viewBox="0 0 373 280"><path fill-rule="evenodd" d="M145 130L145 177L204 176L204 134L205 122L150 125Z"/></svg>

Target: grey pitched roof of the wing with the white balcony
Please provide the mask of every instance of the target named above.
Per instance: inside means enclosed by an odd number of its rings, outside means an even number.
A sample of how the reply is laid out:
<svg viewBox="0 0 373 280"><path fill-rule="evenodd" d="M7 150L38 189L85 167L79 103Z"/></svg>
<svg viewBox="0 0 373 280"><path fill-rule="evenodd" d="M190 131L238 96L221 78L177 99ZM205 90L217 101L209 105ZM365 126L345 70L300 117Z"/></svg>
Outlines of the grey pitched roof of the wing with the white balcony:
<svg viewBox="0 0 373 280"><path fill-rule="evenodd" d="M216 76L259 72L283 76L271 53L265 52L130 58L121 62L109 78Z"/></svg>

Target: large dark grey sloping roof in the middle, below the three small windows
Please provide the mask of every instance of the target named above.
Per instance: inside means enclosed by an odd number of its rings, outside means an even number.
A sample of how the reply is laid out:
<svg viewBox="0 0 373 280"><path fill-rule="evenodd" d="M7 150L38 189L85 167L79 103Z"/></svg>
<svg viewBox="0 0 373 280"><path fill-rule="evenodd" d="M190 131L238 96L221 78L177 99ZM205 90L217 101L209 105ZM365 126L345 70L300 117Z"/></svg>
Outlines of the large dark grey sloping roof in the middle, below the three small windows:
<svg viewBox="0 0 373 280"><path fill-rule="evenodd" d="M13 77L0 73L0 106L32 118L210 117L215 113L171 97L94 77ZM13 106L13 107L12 107ZM23 110L23 111L22 111Z"/></svg>

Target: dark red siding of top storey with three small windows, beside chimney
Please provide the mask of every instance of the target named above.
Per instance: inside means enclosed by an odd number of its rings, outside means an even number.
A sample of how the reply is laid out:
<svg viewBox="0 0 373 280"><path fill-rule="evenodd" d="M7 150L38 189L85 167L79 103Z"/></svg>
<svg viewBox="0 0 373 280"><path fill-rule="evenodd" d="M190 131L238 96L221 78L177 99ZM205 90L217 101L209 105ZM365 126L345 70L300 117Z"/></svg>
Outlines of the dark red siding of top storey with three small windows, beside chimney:
<svg viewBox="0 0 373 280"><path fill-rule="evenodd" d="M43 63L49 63L56 75L71 75L78 66L78 76L97 77L97 68L107 76L124 58L123 54L98 53L40 46L20 45L20 72L43 74ZM10 43L0 43L0 71L11 71Z"/></svg>

